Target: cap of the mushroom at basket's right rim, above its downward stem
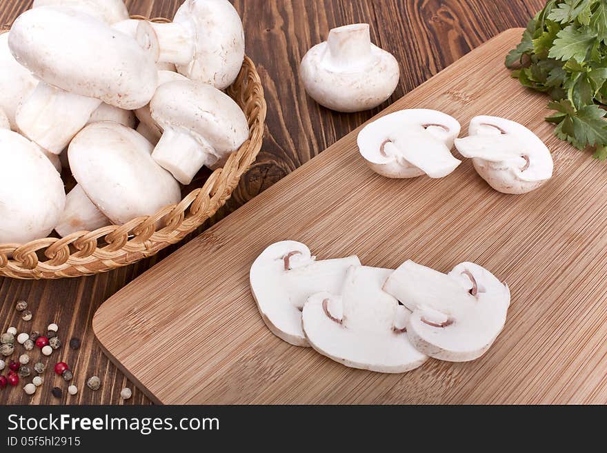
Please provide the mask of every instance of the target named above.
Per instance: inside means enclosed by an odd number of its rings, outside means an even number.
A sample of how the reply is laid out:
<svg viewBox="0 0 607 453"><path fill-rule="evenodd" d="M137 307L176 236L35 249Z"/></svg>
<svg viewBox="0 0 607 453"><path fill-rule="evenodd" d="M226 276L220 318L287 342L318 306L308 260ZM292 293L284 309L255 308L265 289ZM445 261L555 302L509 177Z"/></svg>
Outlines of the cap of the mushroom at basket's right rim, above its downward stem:
<svg viewBox="0 0 607 453"><path fill-rule="evenodd" d="M217 159L240 148L249 137L239 105L211 85L173 81L160 85L150 102L152 118L163 129L182 130L212 148Z"/></svg>

